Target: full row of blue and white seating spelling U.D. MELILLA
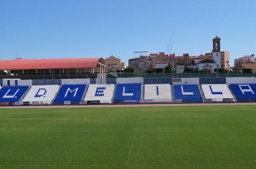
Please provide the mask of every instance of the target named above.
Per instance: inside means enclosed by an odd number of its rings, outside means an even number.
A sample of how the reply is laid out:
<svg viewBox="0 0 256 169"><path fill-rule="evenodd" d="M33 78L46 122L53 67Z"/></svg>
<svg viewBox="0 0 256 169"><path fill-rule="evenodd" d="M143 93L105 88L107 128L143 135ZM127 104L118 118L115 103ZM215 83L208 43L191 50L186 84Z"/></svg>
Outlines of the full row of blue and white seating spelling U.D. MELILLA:
<svg viewBox="0 0 256 169"><path fill-rule="evenodd" d="M201 88L201 90L200 90ZM203 99L205 98L205 99ZM27 104L113 104L256 101L256 84L170 85L63 84L4 86L0 102ZM66 101L66 102L65 102Z"/></svg>

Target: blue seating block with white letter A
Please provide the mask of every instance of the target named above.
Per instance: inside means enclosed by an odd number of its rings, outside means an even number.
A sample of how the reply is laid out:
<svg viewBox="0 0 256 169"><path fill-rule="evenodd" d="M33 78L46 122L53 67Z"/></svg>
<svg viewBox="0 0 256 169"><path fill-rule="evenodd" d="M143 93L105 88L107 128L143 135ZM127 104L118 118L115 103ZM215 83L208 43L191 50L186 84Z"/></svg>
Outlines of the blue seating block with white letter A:
<svg viewBox="0 0 256 169"><path fill-rule="evenodd" d="M230 84L238 101L256 101L256 84Z"/></svg>

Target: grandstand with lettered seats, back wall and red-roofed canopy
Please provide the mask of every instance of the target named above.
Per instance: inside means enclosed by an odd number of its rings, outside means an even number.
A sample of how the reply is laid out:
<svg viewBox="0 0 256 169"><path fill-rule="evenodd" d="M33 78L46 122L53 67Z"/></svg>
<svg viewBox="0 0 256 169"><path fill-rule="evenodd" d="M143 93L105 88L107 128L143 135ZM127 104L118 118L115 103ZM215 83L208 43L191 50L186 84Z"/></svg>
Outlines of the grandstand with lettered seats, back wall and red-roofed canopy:
<svg viewBox="0 0 256 169"><path fill-rule="evenodd" d="M106 78L102 58L5 60L0 70L10 78L0 105L256 101L255 77Z"/></svg>

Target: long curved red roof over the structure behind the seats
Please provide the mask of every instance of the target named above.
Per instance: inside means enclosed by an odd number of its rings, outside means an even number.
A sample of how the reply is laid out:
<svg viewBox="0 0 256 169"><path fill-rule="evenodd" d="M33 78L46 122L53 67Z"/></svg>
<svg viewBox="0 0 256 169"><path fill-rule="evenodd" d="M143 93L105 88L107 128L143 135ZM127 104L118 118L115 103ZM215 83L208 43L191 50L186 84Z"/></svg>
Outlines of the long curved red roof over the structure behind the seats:
<svg viewBox="0 0 256 169"><path fill-rule="evenodd" d="M0 60L0 70L96 68L98 62L105 65L102 58Z"/></svg>

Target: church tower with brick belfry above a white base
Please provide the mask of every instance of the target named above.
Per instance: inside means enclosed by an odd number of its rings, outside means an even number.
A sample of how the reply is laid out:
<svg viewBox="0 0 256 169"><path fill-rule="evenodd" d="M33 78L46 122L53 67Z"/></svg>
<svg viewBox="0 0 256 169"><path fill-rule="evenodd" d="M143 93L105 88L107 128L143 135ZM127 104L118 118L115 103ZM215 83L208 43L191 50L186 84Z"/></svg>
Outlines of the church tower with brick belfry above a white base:
<svg viewBox="0 0 256 169"><path fill-rule="evenodd" d="M221 38L215 37L212 39L212 59L218 65L218 68L221 68Z"/></svg>

